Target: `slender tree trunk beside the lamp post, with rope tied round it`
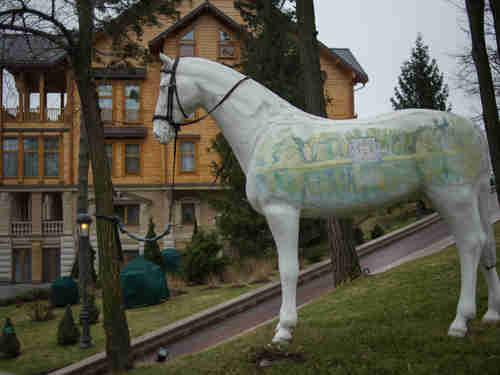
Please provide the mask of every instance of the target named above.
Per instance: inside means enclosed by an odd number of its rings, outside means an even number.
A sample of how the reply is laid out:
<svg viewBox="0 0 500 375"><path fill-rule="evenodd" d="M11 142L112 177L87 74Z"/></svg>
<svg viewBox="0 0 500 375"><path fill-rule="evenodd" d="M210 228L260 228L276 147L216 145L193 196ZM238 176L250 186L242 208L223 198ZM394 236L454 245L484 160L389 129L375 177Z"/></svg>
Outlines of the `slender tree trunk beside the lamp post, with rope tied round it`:
<svg viewBox="0 0 500 375"><path fill-rule="evenodd" d="M94 38L92 0L78 0L80 39L72 66L80 94L84 126L92 163L97 216L113 214L113 186L104 155L104 128L98 106L95 82L91 75L91 50ZM120 285L120 254L113 224L96 220L99 247L99 277L103 285L103 325L106 334L106 355L112 373L131 368L130 333L123 307Z"/></svg>

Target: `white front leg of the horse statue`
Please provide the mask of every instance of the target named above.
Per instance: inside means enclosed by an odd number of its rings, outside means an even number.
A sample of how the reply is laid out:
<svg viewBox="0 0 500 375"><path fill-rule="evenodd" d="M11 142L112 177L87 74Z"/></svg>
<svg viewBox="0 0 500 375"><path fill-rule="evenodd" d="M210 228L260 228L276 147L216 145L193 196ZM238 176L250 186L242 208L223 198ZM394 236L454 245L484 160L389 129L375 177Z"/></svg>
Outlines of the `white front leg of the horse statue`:
<svg viewBox="0 0 500 375"><path fill-rule="evenodd" d="M280 321L273 342L288 342L292 339L292 329L297 324L297 246L300 212L292 206L278 203L266 206L263 211L278 248L281 278Z"/></svg>

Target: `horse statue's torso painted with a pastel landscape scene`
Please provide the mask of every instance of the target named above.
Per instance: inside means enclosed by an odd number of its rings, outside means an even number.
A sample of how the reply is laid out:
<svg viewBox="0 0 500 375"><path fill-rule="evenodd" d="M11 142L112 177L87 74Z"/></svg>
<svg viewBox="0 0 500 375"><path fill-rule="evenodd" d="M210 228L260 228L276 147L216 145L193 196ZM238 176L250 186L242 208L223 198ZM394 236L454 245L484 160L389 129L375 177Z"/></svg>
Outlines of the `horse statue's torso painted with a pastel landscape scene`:
<svg viewBox="0 0 500 375"><path fill-rule="evenodd" d="M472 123L438 111L367 120L306 116L261 137L249 197L281 200L310 216L367 211L431 185L474 183L483 158Z"/></svg>

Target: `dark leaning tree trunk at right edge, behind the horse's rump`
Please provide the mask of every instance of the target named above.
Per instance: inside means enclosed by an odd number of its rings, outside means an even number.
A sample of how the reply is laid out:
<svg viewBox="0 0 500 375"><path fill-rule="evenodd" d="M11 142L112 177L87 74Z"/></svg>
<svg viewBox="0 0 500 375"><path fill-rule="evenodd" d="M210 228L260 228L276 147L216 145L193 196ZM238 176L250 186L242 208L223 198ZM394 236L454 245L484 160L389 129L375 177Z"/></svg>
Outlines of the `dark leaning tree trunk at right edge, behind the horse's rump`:
<svg viewBox="0 0 500 375"><path fill-rule="evenodd" d="M498 19L498 4L492 1L492 11L495 18L495 27ZM491 164L495 174L495 180L500 181L500 132L498 124L498 108L495 98L495 88L493 85L493 77L491 67L486 51L486 41L484 37L484 0L466 0L467 16L469 18L469 26L472 40L472 58L476 66L479 94L481 96L481 104L483 107L483 119L488 136L490 147ZM498 34L497 34L498 42ZM500 190L496 190L497 200L500 201Z"/></svg>

